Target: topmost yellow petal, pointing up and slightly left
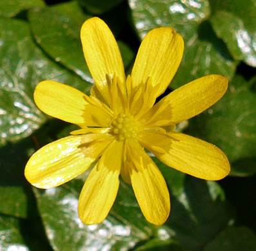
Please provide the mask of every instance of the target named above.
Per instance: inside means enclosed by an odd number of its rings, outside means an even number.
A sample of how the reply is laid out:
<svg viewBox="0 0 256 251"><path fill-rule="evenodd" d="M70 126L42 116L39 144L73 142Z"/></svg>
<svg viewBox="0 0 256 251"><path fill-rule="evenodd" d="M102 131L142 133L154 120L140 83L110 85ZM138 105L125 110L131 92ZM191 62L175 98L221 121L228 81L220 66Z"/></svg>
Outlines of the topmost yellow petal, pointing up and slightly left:
<svg viewBox="0 0 256 251"><path fill-rule="evenodd" d="M81 41L84 57L95 84L110 104L106 75L110 79L116 75L122 83L125 81L123 60L115 37L104 21L93 17L84 22Z"/></svg>

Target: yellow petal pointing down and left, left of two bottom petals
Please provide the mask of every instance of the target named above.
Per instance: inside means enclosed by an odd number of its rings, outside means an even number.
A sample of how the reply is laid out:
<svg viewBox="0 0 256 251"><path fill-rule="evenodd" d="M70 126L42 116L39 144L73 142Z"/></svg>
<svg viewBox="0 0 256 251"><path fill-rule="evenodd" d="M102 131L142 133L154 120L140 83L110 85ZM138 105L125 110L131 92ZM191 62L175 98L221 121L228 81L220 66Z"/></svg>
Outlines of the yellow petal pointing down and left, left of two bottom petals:
<svg viewBox="0 0 256 251"><path fill-rule="evenodd" d="M101 223L112 208L119 187L123 142L112 142L84 183L78 214L87 225Z"/></svg>

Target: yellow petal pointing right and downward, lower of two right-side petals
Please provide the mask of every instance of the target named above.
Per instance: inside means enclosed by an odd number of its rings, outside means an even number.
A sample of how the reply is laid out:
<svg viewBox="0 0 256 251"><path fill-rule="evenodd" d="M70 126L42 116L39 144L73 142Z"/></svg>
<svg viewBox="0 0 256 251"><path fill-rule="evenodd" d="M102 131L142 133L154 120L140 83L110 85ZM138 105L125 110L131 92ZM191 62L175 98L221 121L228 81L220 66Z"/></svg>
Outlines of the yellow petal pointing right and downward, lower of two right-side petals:
<svg viewBox="0 0 256 251"><path fill-rule="evenodd" d="M199 138L182 133L163 135L145 131L141 134L141 144L161 162L197 178L221 180L230 172L230 163L221 149Z"/></svg>

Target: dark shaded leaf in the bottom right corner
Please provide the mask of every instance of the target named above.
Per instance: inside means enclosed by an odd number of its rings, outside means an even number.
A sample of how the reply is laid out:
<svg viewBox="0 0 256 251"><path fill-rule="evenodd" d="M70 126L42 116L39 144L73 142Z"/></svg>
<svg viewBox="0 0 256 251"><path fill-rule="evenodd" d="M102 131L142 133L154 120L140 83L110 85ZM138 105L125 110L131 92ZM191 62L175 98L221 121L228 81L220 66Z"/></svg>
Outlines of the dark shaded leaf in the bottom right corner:
<svg viewBox="0 0 256 251"><path fill-rule="evenodd" d="M247 227L229 227L209 243L203 251L253 251L256 236Z"/></svg>

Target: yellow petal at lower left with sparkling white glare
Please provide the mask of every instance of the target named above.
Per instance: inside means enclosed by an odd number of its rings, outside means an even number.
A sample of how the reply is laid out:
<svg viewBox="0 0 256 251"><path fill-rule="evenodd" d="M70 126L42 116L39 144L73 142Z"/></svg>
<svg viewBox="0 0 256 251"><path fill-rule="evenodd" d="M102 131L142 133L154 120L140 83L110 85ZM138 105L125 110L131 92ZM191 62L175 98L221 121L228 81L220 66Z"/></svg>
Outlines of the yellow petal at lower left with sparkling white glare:
<svg viewBox="0 0 256 251"><path fill-rule="evenodd" d="M106 145L110 144L108 136L102 138L95 141L94 137L92 142L90 135L68 136L45 145L28 160L26 179L42 189L57 187L72 180L86 171ZM88 141L92 144L86 147L84 142Z"/></svg>

